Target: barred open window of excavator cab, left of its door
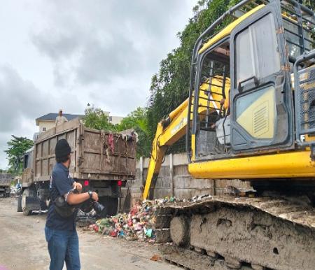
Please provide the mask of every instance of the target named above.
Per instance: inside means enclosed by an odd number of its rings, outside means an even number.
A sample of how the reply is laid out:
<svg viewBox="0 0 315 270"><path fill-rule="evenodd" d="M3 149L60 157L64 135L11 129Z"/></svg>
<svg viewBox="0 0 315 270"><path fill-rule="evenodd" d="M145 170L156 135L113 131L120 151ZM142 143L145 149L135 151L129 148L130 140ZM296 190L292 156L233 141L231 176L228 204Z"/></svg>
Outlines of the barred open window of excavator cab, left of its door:
<svg viewBox="0 0 315 270"><path fill-rule="evenodd" d="M223 138L223 132L218 136L218 129L223 131L222 122L229 114L229 92L230 43L225 41L205 52L200 62L198 102L195 104L196 159L223 154L227 150L228 140Z"/></svg>

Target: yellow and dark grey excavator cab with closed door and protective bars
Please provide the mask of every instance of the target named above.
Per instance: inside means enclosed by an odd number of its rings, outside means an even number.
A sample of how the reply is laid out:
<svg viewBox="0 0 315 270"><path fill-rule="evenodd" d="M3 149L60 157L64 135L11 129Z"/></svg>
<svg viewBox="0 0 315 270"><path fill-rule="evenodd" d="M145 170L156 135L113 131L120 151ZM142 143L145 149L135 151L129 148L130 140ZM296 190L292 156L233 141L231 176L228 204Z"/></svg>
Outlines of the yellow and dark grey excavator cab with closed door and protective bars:
<svg viewBox="0 0 315 270"><path fill-rule="evenodd" d="M218 34L212 32L219 22L213 24L203 34L213 34L209 41L202 36L196 43L188 104L193 119L186 134L193 162L290 150L300 141L294 130L301 118L294 110L300 105L294 104L293 65L315 48L314 13L295 1L247 2L243 15ZM314 64L314 57L308 61ZM314 73L310 69L308 74ZM310 91L314 95L314 88ZM314 118L312 100L307 119Z"/></svg>

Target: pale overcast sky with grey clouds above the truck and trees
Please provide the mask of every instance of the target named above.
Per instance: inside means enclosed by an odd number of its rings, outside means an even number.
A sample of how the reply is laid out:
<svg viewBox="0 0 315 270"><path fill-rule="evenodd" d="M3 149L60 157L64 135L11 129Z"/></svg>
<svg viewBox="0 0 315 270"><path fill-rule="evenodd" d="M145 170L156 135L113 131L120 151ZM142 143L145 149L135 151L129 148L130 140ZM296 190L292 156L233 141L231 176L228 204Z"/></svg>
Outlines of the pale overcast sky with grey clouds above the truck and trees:
<svg viewBox="0 0 315 270"><path fill-rule="evenodd" d="M144 106L151 76L179 45L196 0L1 1L0 168L10 135L35 118L87 103L125 116Z"/></svg>

